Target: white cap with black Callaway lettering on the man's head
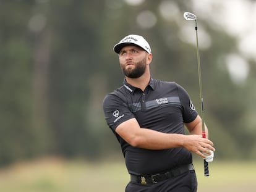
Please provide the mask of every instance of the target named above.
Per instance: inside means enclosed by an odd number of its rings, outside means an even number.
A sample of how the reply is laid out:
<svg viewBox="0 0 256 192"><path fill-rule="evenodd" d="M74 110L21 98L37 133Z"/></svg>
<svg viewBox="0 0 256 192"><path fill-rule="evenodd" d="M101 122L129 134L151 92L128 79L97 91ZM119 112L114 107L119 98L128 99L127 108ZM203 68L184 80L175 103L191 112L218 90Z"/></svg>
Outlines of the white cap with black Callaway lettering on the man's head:
<svg viewBox="0 0 256 192"><path fill-rule="evenodd" d="M121 51L121 49L124 46L127 45L134 45L134 46L139 46L140 48L144 49L145 51L147 51L148 53L151 53L151 48L150 45L148 44L148 42L143 38L143 36L140 35L128 35L125 36L119 43L117 43L114 46L114 52L116 52L117 54L119 54L119 52Z"/></svg>

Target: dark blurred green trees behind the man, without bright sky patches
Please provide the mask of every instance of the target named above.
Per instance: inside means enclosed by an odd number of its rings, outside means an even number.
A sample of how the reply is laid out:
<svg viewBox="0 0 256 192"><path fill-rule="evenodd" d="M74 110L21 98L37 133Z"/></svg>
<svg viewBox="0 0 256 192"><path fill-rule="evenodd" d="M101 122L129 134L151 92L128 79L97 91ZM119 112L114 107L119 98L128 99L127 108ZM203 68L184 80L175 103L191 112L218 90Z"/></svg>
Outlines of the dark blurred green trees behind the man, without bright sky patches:
<svg viewBox="0 0 256 192"><path fill-rule="evenodd" d="M98 158L119 150L101 104L122 84L112 48L130 33L150 42L152 77L177 81L199 110L195 46L179 38L181 25L194 25L161 17L161 2L0 1L1 165L53 154ZM191 10L186 1L169 2L177 4L180 17ZM145 10L156 17L153 27L137 22ZM203 19L199 24L212 42L200 54L205 116L216 155L253 158L255 63L248 61L246 84L234 84L224 56L239 54L236 38Z"/></svg>

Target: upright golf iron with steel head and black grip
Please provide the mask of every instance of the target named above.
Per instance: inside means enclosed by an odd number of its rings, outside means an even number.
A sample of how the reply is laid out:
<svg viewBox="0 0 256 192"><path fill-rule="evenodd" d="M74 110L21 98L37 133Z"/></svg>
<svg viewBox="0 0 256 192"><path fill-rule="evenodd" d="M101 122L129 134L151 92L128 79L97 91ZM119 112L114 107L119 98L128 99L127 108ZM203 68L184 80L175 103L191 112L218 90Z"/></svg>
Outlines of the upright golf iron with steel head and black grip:
<svg viewBox="0 0 256 192"><path fill-rule="evenodd" d="M203 111L203 90L202 90L202 75L201 75L201 65L200 65L200 54L198 48L198 35L197 35L197 16L190 12L184 12L185 20L194 20L195 21L195 35L197 38L197 69L198 69L198 81L199 81L199 92L200 92L200 102L201 102L201 118L202 118L202 136L205 138L205 117ZM203 160L205 167L205 176L209 176L208 162Z"/></svg>

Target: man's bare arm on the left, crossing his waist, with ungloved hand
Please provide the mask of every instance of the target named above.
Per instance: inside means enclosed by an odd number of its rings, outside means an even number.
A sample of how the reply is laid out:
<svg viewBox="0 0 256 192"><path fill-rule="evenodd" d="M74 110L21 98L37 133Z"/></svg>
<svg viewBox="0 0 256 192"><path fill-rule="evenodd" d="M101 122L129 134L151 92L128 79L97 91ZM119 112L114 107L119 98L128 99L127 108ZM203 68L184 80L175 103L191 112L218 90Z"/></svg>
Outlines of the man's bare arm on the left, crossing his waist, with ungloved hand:
<svg viewBox="0 0 256 192"><path fill-rule="evenodd" d="M161 133L147 128L140 128L135 118L118 125L116 133L127 143L137 148L170 149L183 147L203 158L206 156L202 152L208 153L208 149L215 151L213 143L208 139L202 138L202 135Z"/></svg>

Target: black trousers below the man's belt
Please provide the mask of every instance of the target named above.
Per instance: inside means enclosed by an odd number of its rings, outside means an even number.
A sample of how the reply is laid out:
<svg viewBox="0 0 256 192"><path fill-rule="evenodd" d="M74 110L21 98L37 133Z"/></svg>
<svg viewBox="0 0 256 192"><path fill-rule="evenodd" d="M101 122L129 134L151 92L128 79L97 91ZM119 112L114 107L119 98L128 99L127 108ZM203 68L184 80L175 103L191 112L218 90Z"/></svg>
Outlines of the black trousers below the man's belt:
<svg viewBox="0 0 256 192"><path fill-rule="evenodd" d="M159 183L140 184L129 182L126 192L196 192L197 176L195 170L182 173L181 175L169 178Z"/></svg>

